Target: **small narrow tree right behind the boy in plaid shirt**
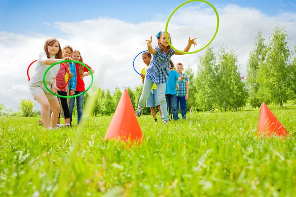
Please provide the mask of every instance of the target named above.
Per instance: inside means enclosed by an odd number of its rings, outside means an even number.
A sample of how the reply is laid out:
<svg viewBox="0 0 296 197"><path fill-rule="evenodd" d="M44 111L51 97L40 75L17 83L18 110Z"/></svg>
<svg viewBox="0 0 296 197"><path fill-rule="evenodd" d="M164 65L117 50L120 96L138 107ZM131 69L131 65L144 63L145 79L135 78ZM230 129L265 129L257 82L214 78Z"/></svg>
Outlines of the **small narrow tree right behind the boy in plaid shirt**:
<svg viewBox="0 0 296 197"><path fill-rule="evenodd" d="M192 70L192 67L190 65L188 65L187 69L184 71L184 74L186 74L188 76L188 85L189 85L189 94L188 94L188 100L186 101L186 110L190 110L191 108L193 110L196 110L196 98L195 98L195 94L197 94L197 90L196 90L196 82L195 82L195 76L194 76L194 72Z"/></svg>

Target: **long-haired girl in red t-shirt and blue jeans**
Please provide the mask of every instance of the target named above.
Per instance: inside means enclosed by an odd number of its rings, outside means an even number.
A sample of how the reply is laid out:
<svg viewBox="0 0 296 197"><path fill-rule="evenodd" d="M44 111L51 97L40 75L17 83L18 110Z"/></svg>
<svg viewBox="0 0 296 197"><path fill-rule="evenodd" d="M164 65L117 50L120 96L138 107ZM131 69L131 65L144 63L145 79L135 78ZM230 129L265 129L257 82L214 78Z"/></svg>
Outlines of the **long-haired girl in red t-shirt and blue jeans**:
<svg viewBox="0 0 296 197"><path fill-rule="evenodd" d="M75 61L83 63L83 59L82 59L80 52L78 50L73 51L72 58ZM74 95L79 95L80 93L85 91L83 77L90 75L90 72L83 65L75 63L75 66L76 66L76 75L77 75L76 76L77 85L76 85L76 90L74 92ZM92 73L95 73L94 69L92 69L90 66L88 66L88 67L92 71ZM87 72L87 73L84 74L84 72ZM70 95L71 94L73 94L72 90L70 91ZM76 106L77 106L77 125L79 125L82 122L84 94L70 99L70 106L69 106L69 108L70 108L70 124L72 124L72 114L73 114L75 98L76 98Z"/></svg>

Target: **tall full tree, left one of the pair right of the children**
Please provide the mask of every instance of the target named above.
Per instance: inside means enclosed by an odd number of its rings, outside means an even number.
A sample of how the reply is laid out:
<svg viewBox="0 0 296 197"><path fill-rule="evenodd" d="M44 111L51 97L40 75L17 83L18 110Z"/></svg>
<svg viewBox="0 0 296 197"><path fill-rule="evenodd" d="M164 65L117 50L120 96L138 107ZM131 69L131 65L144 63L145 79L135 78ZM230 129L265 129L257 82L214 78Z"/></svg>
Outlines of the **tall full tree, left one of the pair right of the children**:
<svg viewBox="0 0 296 197"><path fill-rule="evenodd" d="M199 59L196 74L196 104L203 111L214 111L217 95L216 58L213 47L208 47L205 55ZM189 88L189 92L190 92Z"/></svg>

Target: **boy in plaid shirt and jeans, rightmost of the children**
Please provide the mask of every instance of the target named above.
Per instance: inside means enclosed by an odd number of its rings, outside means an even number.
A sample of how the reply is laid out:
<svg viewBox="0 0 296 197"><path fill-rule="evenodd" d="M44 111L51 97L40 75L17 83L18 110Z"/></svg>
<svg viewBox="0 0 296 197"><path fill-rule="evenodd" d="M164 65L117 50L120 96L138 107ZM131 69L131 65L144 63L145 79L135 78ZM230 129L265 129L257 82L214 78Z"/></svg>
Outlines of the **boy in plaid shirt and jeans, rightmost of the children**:
<svg viewBox="0 0 296 197"><path fill-rule="evenodd" d="M179 102L181 105L181 115L182 118L186 118L186 100L188 100L188 94L189 94L189 85L188 85L188 76L183 74L182 71L184 70L184 66L182 63L177 63L177 72L179 76L185 76L185 79L183 81L177 81L179 84L179 90L177 91L177 108L179 111Z"/></svg>

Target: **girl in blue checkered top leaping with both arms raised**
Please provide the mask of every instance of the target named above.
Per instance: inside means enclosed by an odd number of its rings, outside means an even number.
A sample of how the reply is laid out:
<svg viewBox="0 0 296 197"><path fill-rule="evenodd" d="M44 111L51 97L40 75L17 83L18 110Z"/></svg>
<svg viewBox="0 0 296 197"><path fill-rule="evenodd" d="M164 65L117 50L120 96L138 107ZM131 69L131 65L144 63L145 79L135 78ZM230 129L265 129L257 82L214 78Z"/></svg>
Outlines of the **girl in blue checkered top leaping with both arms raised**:
<svg viewBox="0 0 296 197"><path fill-rule="evenodd" d="M169 71L170 71L170 58L176 54L176 55L183 55L182 53L179 53L175 51L174 49L171 49L169 46L165 33L159 32L156 35L158 46L155 48L152 48L151 42L152 42L152 36L150 37L150 40L146 40L148 45L148 51L153 55L153 59L150 63L150 66L147 68L147 75L145 77L144 81L144 88L142 95L139 100L138 109L137 109L137 116L141 116L143 112L143 107L145 104L145 101L148 99L151 88L153 86L153 83L156 84L157 87L157 98L160 104L161 112L162 112L162 121L164 124L167 123L168 114L167 114L167 104L165 99L165 89L166 89L166 83L169 79ZM171 41L171 36L168 33L168 39ZM188 39L188 44L185 47L184 51L187 52L191 45L196 45L195 42L196 38Z"/></svg>

